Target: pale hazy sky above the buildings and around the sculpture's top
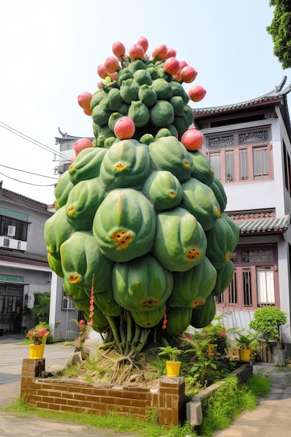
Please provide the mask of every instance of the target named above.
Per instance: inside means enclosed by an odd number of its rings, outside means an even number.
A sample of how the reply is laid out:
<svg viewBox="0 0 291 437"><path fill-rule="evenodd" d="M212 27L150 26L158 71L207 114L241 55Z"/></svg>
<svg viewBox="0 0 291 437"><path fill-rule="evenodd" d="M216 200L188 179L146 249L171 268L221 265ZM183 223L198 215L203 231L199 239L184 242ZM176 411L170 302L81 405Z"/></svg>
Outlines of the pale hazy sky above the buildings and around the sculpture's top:
<svg viewBox="0 0 291 437"><path fill-rule="evenodd" d="M129 50L145 36L149 54L163 43L177 50L207 90L192 108L262 96L284 75L291 82L266 31L269 0L3 0L0 11L0 182L46 204L58 128L93 136L77 96L96 91L97 66L116 41Z"/></svg>

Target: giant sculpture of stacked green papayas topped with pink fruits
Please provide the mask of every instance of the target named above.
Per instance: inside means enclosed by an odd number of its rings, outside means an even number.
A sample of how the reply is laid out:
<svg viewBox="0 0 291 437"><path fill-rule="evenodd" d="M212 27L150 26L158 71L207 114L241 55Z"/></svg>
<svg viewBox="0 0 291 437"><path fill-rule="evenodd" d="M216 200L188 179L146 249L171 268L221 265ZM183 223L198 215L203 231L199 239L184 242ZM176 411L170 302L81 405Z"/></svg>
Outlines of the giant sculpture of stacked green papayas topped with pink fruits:
<svg viewBox="0 0 291 437"><path fill-rule="evenodd" d="M207 325L232 279L239 228L188 105L197 72L142 37L98 66L101 82L78 103L95 140L78 141L45 225L50 267L110 347L132 359L188 325ZM190 97L189 97L190 96ZM168 324L167 324L168 321Z"/></svg>

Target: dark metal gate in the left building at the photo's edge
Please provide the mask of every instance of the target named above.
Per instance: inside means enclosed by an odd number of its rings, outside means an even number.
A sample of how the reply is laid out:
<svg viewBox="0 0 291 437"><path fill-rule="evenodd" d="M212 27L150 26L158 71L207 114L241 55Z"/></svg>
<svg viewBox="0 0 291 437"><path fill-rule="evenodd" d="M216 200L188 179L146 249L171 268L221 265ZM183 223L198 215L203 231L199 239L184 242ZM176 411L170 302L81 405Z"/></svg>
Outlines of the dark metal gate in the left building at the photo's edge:
<svg viewBox="0 0 291 437"><path fill-rule="evenodd" d="M0 328L6 334L21 331L23 292L23 285L0 283Z"/></svg>

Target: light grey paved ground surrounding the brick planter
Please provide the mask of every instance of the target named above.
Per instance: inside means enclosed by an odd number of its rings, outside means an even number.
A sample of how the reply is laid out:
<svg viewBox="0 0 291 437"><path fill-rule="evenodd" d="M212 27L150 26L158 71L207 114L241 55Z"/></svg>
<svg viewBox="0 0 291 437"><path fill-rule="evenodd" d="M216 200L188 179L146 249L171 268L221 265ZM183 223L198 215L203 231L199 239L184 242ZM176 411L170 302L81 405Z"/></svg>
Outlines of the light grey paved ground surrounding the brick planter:
<svg viewBox="0 0 291 437"><path fill-rule="evenodd" d="M124 433L114 434L112 429L96 429L82 425L43 420L38 417L15 417L1 410L20 395L22 360L28 357L28 347L23 345L24 336L0 336L0 436L1 437L133 437ZM45 346L46 369L63 366L73 348L64 343ZM291 437L291 369L272 364L257 364L254 373L271 376L271 393L260 399L257 410L246 411L230 428L216 433L216 437Z"/></svg>

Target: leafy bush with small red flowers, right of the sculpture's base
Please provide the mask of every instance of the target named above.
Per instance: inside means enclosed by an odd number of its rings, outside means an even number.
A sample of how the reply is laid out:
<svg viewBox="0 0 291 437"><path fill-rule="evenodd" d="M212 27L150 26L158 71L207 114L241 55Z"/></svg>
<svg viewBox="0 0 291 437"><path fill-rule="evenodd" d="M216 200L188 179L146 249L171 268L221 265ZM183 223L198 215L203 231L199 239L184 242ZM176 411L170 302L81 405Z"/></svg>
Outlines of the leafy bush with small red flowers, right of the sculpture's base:
<svg viewBox="0 0 291 437"><path fill-rule="evenodd" d="M215 345L218 355L227 355L231 342L227 334L228 329L219 320L220 318L214 319L214 323L209 323L200 332L203 339L208 339L209 344Z"/></svg>

